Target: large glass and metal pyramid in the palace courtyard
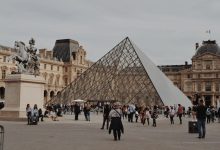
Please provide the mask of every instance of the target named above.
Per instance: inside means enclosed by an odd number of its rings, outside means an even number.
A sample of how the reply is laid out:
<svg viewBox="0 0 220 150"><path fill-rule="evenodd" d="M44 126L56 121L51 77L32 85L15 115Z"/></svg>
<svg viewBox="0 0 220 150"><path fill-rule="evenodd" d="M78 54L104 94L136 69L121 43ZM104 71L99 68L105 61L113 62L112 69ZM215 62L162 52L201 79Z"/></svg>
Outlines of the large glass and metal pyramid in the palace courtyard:
<svg viewBox="0 0 220 150"><path fill-rule="evenodd" d="M68 104L74 99L191 106L191 101L128 37L50 103Z"/></svg>

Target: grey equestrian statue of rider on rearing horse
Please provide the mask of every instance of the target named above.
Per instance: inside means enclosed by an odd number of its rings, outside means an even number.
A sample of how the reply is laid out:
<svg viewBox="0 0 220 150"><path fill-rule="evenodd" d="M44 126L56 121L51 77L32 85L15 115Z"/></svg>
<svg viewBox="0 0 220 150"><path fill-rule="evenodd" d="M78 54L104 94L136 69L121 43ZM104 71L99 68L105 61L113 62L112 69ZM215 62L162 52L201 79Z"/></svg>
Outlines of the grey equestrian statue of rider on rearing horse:
<svg viewBox="0 0 220 150"><path fill-rule="evenodd" d="M35 40L31 38L29 40L29 46L25 46L22 41L15 41L16 54L11 55L9 60L15 60L18 70L15 72L17 74L40 74L40 61L37 56L37 48L34 47Z"/></svg>

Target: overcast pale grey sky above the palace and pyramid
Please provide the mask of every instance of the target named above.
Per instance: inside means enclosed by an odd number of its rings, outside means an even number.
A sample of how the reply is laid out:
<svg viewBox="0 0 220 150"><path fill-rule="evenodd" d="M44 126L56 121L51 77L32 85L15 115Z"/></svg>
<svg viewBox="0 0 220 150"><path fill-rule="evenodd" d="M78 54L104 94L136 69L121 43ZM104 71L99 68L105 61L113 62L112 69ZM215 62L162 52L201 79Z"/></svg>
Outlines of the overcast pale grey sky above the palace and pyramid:
<svg viewBox="0 0 220 150"><path fill-rule="evenodd" d="M0 0L0 45L53 49L77 40L96 61L128 36L157 65L191 63L195 43L220 44L219 0ZM211 35L205 33L211 30Z"/></svg>

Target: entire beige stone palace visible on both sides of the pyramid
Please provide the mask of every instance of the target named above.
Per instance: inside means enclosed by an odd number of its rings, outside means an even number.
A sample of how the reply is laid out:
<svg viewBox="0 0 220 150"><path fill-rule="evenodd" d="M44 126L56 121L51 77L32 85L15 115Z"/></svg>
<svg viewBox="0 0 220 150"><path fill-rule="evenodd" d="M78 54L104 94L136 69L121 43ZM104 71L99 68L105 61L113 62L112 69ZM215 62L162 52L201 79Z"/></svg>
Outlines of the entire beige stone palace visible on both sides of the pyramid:
<svg viewBox="0 0 220 150"><path fill-rule="evenodd" d="M159 68L183 93L195 102L217 106L220 99L220 47L215 40L195 44L192 63L164 65ZM0 45L0 98L4 99L4 79L16 70L15 61L7 57L14 48ZM80 76L93 62L86 59L86 51L75 40L56 40L53 50L39 49L40 76L45 79L44 102L53 98L64 87Z"/></svg>

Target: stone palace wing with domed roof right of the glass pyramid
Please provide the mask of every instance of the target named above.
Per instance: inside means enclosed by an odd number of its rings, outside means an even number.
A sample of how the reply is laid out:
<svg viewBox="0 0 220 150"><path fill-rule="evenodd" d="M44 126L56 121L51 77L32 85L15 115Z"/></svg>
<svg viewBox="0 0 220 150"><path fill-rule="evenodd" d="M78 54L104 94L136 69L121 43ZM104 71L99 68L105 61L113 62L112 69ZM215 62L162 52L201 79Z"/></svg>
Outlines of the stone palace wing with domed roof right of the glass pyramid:
<svg viewBox="0 0 220 150"><path fill-rule="evenodd" d="M207 106L217 106L220 98L220 48L216 41L196 43L192 65L159 66L192 102L203 99Z"/></svg>

